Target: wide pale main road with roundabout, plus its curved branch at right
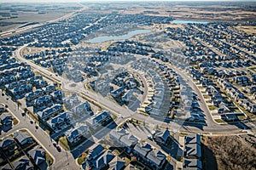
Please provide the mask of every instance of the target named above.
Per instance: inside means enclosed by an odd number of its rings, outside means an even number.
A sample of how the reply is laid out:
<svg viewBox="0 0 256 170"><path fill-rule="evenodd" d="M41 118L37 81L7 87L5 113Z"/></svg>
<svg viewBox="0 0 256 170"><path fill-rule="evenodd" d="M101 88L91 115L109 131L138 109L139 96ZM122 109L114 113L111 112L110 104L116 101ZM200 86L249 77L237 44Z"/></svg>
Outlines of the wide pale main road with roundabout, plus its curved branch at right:
<svg viewBox="0 0 256 170"><path fill-rule="evenodd" d="M172 69L174 71L176 71L177 74L179 74L181 77L183 77L185 80L187 80L189 82L189 85L191 86L191 88L193 88L193 90L195 91L195 94L197 94L198 98L200 99L199 104L201 105L201 110L204 111L204 113L205 113L207 126L202 126L201 123L188 123L187 122L182 127L183 121L169 122L169 123L162 122L161 120L158 121L153 117L144 116L142 114L138 114L137 112L133 112L133 111L125 108L124 106L120 106L120 105L114 103L113 101L104 98L101 94L96 94L96 93L93 93L91 91L84 89L84 84L82 82L76 83L76 87L73 87L73 86L71 86L71 84L74 84L74 82L69 81L63 77L56 76L53 72L48 71L44 67L38 66L38 65L32 63L32 61L21 57L20 50L22 48L24 48L24 47L18 48L15 51L15 56L17 59L19 59L22 62L26 62L26 64L28 64L28 65L31 65L33 68L35 68L39 73L41 73L45 77L48 77L49 79L52 79L55 82L61 83L61 85L62 85L61 87L64 91L66 90L69 92L80 94L80 95L84 96L85 98L87 98L88 100L95 102L96 105L100 105L102 107L102 109L112 111L113 114L115 114L116 116L119 116L119 118L116 120L117 124L119 124L118 122L122 122L124 118L132 117L132 118L136 118L141 121L150 122L154 125L159 124L164 127L174 128L176 130L180 129L183 131L195 132L195 133L224 133L224 132L239 133L239 132L241 132L241 126L238 127L236 125L225 125L225 126L219 125L218 123L216 123L212 120L211 113L208 110L207 104L205 103L205 100L200 92L200 89L195 85L193 80L186 75L185 72L177 69L177 67L175 65L171 65ZM120 117L120 115L122 115L123 118ZM246 126L253 128L253 126L250 123L247 123Z"/></svg>

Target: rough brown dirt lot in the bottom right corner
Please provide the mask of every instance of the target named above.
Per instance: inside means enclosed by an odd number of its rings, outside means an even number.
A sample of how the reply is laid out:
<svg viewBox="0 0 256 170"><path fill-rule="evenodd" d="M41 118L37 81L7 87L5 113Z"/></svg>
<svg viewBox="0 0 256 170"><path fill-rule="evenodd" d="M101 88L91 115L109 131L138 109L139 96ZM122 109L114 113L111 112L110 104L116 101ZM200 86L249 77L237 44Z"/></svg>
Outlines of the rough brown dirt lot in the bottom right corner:
<svg viewBox="0 0 256 170"><path fill-rule="evenodd" d="M202 160L204 169L256 169L255 144L247 142L253 136L204 137Z"/></svg>

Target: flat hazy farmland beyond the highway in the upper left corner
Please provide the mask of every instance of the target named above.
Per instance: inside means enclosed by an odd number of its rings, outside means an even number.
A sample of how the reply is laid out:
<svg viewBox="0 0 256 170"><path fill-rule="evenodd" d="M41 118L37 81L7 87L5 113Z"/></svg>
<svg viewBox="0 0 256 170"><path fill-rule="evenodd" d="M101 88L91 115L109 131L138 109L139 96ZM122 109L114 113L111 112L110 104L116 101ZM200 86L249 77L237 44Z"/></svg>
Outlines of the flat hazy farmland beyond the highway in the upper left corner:
<svg viewBox="0 0 256 170"><path fill-rule="evenodd" d="M53 6L48 3L3 3L0 5L0 32L25 26L28 23L44 23L57 19L80 8L79 5L61 3Z"/></svg>

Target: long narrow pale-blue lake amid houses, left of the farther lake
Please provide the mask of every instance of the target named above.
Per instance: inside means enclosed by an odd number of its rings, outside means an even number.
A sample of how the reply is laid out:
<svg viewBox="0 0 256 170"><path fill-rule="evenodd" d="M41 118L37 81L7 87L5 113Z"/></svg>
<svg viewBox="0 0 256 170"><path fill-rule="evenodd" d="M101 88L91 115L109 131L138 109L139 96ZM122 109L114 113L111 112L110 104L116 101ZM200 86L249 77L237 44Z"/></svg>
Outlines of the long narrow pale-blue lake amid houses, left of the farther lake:
<svg viewBox="0 0 256 170"><path fill-rule="evenodd" d="M136 31L130 31L125 35L122 36L102 36L102 37L95 37L90 39L88 42L91 43L96 43L96 42L107 42L110 40L119 40L119 39L128 39L132 36L138 35L138 34L143 34L143 33L148 33L150 30L136 30Z"/></svg>

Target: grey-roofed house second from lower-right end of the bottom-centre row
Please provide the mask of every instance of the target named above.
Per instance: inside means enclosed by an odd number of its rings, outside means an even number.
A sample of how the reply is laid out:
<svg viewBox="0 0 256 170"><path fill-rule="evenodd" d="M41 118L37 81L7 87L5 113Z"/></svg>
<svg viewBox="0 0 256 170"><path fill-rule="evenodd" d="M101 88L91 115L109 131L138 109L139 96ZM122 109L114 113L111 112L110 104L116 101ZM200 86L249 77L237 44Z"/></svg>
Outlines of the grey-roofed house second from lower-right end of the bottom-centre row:
<svg viewBox="0 0 256 170"><path fill-rule="evenodd" d="M148 152L152 150L152 147L148 143L137 143L132 150L134 156L137 156L138 161L147 161Z"/></svg>

